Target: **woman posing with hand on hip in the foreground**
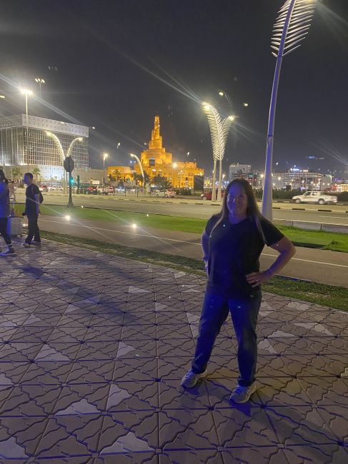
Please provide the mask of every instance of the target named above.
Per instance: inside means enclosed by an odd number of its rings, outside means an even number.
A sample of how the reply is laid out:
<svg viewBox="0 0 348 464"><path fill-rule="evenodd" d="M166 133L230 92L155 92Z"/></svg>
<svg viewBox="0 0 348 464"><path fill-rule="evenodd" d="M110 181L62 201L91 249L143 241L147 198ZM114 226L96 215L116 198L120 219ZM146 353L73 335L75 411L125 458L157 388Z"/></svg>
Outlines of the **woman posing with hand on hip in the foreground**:
<svg viewBox="0 0 348 464"><path fill-rule="evenodd" d="M260 271L259 256L265 244L278 251L279 256L266 271ZM287 264L295 248L259 212L249 182L237 178L227 186L222 210L207 223L202 234L202 249L208 277L207 291L192 368L182 378L182 386L192 388L207 375L214 342L230 312L237 336L239 366L238 385L231 400L246 403L256 391L260 284Z"/></svg>

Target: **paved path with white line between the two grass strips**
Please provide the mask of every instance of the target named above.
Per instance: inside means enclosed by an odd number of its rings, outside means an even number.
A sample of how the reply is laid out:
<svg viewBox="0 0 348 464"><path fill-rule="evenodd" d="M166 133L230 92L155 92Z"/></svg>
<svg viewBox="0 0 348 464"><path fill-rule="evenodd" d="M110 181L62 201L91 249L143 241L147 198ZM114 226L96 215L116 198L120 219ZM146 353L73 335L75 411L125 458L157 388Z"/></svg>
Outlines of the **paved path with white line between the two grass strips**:
<svg viewBox="0 0 348 464"><path fill-rule="evenodd" d="M167 231L164 229L134 229L106 221L62 221L60 216L41 216L40 227L45 231L94 238L108 243L120 243L148 250L161 251L179 256L201 259L202 251L197 233ZM277 253L272 248L264 248L261 256L262 268L274 261ZM339 285L348 288L347 253L297 248L296 256L282 270L282 275L302 278L319 283Z"/></svg>

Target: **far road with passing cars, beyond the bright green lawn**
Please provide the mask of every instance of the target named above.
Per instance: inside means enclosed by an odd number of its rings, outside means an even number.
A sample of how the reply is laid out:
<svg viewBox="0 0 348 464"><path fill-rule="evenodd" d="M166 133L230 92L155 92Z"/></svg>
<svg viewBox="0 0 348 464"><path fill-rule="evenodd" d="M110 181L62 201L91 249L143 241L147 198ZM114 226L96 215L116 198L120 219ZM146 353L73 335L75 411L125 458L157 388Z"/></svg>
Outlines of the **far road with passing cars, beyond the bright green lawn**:
<svg viewBox="0 0 348 464"><path fill-rule="evenodd" d="M17 201L23 202L24 195L17 194ZM53 192L44 193L45 205L66 205L67 196ZM136 211L149 214L169 214L191 218L209 218L220 210L211 201L183 198L137 198L136 196L86 196L75 195L75 206L110 208L120 211ZM320 211L318 211L320 210ZM273 218L313 223L330 223L348 226L348 205L294 205L294 203L274 203Z"/></svg>

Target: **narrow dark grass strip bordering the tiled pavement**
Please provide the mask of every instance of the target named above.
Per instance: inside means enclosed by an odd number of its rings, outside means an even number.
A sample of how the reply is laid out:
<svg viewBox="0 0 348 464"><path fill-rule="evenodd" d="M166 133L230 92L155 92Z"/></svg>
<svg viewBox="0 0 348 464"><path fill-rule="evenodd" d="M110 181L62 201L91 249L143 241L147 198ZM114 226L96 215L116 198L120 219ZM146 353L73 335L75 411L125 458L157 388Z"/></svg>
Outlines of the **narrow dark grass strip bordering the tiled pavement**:
<svg viewBox="0 0 348 464"><path fill-rule="evenodd" d="M67 236L61 233L43 231L41 235L44 238L65 243L66 245L89 248L136 261L144 261L205 276L204 264L201 260L122 246L117 243L105 243L88 238ZM264 284L262 289L269 293L276 293L277 295L289 296L289 298L348 311L348 288L308 281L294 281L291 278L274 277L267 284Z"/></svg>

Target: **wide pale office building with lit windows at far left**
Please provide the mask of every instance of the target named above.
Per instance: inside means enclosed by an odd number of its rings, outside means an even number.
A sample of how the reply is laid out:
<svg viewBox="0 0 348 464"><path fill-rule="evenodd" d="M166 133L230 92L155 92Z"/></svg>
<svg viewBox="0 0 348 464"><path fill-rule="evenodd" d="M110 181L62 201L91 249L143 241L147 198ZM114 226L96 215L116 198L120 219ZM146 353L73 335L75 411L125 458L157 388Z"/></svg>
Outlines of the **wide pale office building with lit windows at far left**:
<svg viewBox="0 0 348 464"><path fill-rule="evenodd" d="M0 166L9 178L18 166L21 173L39 168L41 180L61 181L69 146L75 167L89 167L88 136L88 127L64 121L25 114L0 118Z"/></svg>

